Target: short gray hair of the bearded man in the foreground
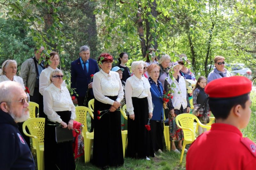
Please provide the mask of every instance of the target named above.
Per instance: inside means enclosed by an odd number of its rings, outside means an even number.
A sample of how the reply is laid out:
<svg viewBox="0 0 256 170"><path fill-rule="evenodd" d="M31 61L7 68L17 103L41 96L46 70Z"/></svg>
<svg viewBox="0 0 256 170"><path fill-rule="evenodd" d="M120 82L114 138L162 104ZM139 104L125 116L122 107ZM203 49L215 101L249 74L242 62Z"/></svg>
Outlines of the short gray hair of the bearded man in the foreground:
<svg viewBox="0 0 256 170"><path fill-rule="evenodd" d="M15 81L3 81L0 83L0 103L10 102L17 91L17 88L22 89L20 83Z"/></svg>

